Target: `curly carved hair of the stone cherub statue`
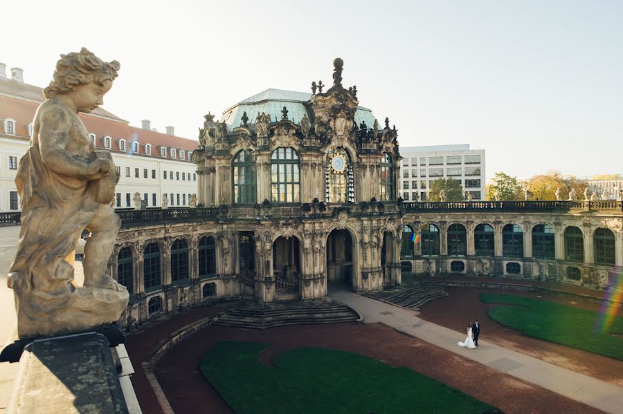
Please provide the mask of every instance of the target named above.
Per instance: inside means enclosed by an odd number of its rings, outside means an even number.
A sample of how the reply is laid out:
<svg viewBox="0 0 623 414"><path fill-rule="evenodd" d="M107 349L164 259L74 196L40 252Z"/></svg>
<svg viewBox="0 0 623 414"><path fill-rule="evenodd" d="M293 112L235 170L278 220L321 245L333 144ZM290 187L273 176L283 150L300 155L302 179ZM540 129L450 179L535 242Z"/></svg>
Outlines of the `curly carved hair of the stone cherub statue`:
<svg viewBox="0 0 623 414"><path fill-rule="evenodd" d="M61 55L56 62L54 79L44 89L44 95L49 99L58 93L71 92L75 86L89 82L102 86L107 80L113 81L118 76L120 67L116 60L102 62L102 59L93 55L87 48L80 49L80 53Z"/></svg>

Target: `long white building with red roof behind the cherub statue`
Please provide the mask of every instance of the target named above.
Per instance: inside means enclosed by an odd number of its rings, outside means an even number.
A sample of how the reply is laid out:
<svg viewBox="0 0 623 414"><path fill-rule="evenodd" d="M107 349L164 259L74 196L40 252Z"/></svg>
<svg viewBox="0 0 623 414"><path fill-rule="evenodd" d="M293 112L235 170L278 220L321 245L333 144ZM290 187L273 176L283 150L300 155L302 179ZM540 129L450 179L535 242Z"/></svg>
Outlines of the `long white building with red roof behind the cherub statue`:
<svg viewBox="0 0 623 414"><path fill-rule="evenodd" d="M0 211L19 211L15 175L33 133L35 111L44 101L43 89L24 83L24 71L0 64ZM111 151L120 180L116 186L116 207L134 207L134 193L141 194L144 207L161 207L163 194L170 207L190 205L197 193L197 172L190 156L199 142L151 128L143 120L139 128L98 108L80 114L96 148Z"/></svg>

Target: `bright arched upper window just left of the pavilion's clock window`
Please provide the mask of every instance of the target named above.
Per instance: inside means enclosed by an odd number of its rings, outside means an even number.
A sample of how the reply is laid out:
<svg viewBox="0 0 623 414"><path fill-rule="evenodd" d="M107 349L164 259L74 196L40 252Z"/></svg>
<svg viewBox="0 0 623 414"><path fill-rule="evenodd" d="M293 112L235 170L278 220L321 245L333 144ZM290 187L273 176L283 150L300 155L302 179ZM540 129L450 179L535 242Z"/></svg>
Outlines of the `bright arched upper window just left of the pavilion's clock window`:
<svg viewBox="0 0 623 414"><path fill-rule="evenodd" d="M293 148L278 148L271 156L271 200L273 203L300 202L298 153Z"/></svg>

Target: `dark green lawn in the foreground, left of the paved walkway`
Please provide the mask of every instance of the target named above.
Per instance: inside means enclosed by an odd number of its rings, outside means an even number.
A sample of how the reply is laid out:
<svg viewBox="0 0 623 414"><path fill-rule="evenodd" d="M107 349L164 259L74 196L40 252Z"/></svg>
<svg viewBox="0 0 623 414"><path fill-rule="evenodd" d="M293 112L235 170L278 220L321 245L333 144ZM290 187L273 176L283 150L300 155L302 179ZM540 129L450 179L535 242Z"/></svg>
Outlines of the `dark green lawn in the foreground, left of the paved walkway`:
<svg viewBox="0 0 623 414"><path fill-rule="evenodd" d="M260 362L269 344L217 342L201 373L235 413L499 413L408 368L324 348L297 348Z"/></svg>

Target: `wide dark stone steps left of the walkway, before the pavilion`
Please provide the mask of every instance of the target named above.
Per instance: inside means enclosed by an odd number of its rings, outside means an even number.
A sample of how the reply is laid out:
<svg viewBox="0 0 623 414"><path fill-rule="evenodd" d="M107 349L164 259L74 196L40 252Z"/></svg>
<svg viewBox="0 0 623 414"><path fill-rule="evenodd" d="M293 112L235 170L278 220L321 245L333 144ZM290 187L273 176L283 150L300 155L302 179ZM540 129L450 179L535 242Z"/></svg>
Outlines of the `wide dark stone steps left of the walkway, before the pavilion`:
<svg viewBox="0 0 623 414"><path fill-rule="evenodd" d="M329 300L255 305L229 310L213 324L237 328L267 329L275 326L361 321L361 316L341 303Z"/></svg>

